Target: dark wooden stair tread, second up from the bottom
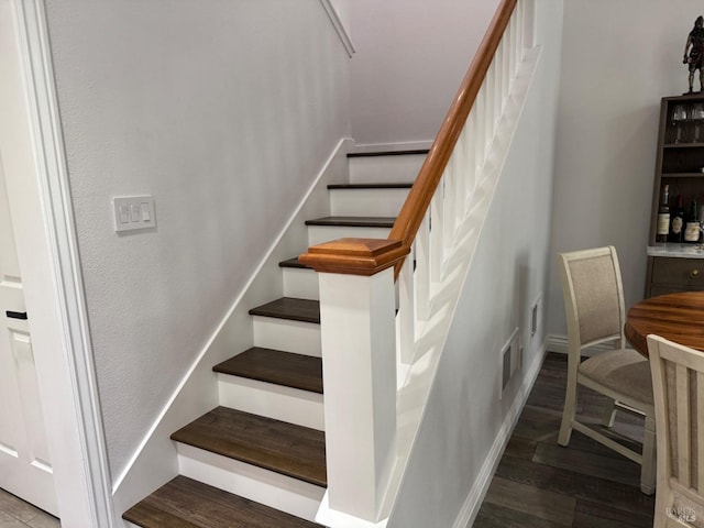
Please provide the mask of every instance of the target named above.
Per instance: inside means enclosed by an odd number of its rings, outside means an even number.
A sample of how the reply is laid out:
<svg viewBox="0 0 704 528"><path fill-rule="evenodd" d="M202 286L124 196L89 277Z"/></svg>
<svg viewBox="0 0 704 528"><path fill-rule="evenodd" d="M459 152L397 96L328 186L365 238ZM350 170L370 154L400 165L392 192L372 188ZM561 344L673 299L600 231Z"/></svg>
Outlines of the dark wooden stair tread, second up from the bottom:
<svg viewBox="0 0 704 528"><path fill-rule="evenodd" d="M324 432L228 407L216 407L172 440L327 486Z"/></svg>

